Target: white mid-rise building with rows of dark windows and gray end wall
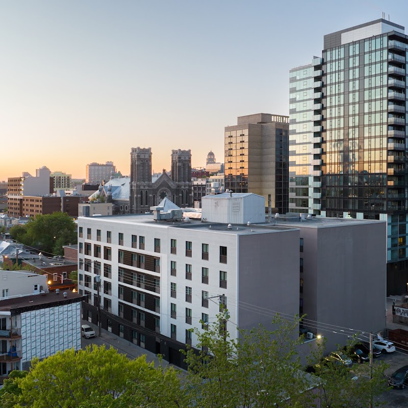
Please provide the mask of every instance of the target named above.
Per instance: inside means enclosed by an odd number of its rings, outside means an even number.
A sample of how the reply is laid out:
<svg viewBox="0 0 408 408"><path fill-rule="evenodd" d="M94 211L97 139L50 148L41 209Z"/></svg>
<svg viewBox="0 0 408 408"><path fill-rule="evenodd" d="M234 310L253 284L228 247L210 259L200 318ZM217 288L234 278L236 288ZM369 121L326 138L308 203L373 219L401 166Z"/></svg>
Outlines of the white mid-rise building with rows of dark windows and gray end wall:
<svg viewBox="0 0 408 408"><path fill-rule="evenodd" d="M259 207L257 214L264 214L263 197L238 195L245 224L246 199ZM216 196L220 211L225 208L221 201L229 196ZM253 196L258 200L250 200ZM230 206L230 212L236 209ZM270 317L254 313L246 304L298 313L296 229L230 228L177 217L155 221L152 214L138 214L80 217L78 231L79 290L87 299L84 319L97 323L94 278L100 274L102 327L178 366L184 367L179 350L197 342L188 329L200 328L200 320L214 322L220 302L228 309L226 326L233 337L237 324L270 324Z"/></svg>

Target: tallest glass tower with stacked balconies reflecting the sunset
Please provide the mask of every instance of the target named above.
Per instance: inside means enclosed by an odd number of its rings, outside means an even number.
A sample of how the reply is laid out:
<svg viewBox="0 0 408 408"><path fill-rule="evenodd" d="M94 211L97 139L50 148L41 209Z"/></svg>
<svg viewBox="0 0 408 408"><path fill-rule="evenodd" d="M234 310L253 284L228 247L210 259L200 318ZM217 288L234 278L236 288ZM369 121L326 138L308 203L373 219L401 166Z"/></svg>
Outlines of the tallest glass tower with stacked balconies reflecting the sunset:
<svg viewBox="0 0 408 408"><path fill-rule="evenodd" d="M404 27L385 19L324 36L290 71L291 212L386 220L387 293L408 282Z"/></svg>

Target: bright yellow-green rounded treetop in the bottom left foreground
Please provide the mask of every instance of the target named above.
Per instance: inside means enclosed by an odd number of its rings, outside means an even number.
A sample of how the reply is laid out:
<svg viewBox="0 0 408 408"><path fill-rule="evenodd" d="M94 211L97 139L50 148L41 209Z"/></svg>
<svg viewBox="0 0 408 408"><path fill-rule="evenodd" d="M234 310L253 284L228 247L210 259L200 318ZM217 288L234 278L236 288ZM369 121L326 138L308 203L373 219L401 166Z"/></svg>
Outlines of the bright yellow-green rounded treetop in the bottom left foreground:
<svg viewBox="0 0 408 408"><path fill-rule="evenodd" d="M30 372L13 377L7 389L14 403L3 405L7 408L189 406L177 370L154 367L145 356L130 360L112 347L95 345L58 352L42 362L35 359Z"/></svg>

